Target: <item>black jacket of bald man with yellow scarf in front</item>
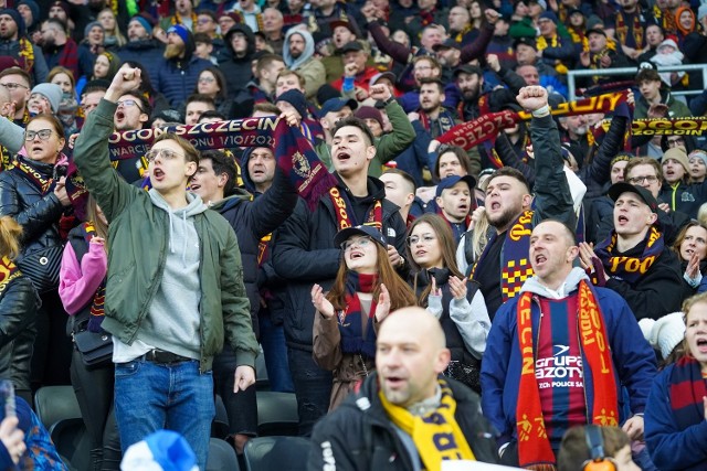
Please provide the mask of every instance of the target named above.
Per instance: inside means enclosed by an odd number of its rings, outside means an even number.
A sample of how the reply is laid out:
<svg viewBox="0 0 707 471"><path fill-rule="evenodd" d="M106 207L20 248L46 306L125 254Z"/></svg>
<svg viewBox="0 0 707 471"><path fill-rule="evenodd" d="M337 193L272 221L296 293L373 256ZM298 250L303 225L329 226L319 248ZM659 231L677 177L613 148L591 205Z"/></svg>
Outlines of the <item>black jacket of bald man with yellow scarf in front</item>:
<svg viewBox="0 0 707 471"><path fill-rule="evenodd" d="M495 435L482 416L476 393L446 379L456 400L456 419L477 461L495 463ZM411 457L398 437L378 397L378 375L372 373L358 394L321 419L312 435L310 471L412 470Z"/></svg>

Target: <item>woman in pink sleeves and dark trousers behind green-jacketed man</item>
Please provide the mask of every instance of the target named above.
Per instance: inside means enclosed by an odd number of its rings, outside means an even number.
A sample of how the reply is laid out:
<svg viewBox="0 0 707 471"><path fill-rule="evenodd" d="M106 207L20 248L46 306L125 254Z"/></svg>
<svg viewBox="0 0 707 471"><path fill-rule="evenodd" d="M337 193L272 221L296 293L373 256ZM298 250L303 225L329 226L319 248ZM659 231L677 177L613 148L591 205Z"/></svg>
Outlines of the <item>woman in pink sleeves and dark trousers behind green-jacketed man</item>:
<svg viewBox="0 0 707 471"><path fill-rule="evenodd" d="M86 222L68 233L60 272L59 296L72 317L72 335L83 331L104 333L101 323L105 315L107 239L108 222L89 195ZM120 464L118 430L112 417L114 375L112 362L87 367L74 345L71 382L91 440L92 470L118 470Z"/></svg>

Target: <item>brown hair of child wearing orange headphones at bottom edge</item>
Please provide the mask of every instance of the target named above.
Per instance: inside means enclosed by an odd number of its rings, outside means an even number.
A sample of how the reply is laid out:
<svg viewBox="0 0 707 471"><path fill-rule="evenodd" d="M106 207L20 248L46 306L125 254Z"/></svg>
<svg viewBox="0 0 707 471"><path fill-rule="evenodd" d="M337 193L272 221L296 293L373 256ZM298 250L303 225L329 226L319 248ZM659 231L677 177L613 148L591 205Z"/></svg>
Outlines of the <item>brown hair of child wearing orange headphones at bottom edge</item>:
<svg viewBox="0 0 707 471"><path fill-rule="evenodd" d="M622 448L631 445L626 432L619 427L600 427L600 430L606 458L615 457ZM587 426L570 428L562 437L560 451L557 456L558 471L581 470L589 459L591 459L591 450L587 445Z"/></svg>

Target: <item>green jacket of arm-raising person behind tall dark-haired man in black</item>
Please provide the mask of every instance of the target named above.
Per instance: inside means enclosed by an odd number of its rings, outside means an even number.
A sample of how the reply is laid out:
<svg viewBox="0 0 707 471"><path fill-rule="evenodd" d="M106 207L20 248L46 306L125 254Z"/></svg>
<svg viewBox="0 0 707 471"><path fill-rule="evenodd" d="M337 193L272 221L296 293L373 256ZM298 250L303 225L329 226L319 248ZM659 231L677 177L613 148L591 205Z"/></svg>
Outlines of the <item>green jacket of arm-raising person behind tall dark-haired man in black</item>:
<svg viewBox="0 0 707 471"><path fill-rule="evenodd" d="M383 163L389 162L397 158L400 152L408 149L410 144L415 140L415 130L398 101L392 100L386 105L386 114L390 119L390 125L393 130L391 132L382 135L376 139L376 156L371 160L368 167L368 175L379 178L383 174ZM329 172L334 172L334 164L331 163L331 148L321 140L317 142L314 150L319 156L319 159L329 169Z"/></svg>

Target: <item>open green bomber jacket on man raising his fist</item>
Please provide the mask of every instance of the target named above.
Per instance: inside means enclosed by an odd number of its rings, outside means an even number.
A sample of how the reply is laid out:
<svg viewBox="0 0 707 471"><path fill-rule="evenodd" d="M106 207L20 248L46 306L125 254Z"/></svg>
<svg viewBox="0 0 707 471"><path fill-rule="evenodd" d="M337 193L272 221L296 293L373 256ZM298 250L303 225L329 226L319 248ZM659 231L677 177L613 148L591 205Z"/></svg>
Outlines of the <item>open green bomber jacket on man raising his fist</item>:
<svg viewBox="0 0 707 471"><path fill-rule="evenodd" d="M147 192L125 182L110 164L108 138L115 109L115 104L104 99L88 116L76 139L74 162L110 223L106 318L102 327L131 344L162 278L169 218ZM196 215L194 227L201 243L200 370L211 370L224 338L239 365L254 366L257 342L233 228L212 210Z"/></svg>

